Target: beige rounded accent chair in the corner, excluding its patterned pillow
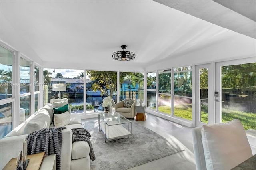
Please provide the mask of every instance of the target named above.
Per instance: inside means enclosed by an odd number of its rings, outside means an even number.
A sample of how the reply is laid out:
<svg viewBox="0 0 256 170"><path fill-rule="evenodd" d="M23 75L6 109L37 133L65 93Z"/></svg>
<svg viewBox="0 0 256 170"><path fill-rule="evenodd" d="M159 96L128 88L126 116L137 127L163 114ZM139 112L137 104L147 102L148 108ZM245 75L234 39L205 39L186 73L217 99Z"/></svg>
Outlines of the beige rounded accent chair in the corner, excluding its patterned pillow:
<svg viewBox="0 0 256 170"><path fill-rule="evenodd" d="M126 118L134 119L134 117L136 116L135 106L137 105L137 101L132 100L133 103L132 103L131 107L128 108L128 107L124 107L124 100L116 103L116 105L115 105L116 112L120 113L122 116L124 116Z"/></svg>

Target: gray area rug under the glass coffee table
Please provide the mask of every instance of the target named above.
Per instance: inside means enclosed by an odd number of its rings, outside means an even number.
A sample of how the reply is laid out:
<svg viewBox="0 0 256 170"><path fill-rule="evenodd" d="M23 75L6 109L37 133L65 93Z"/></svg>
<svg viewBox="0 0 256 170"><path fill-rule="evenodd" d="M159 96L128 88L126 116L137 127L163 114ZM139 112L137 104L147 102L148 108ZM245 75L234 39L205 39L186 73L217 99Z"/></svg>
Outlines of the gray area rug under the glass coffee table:
<svg viewBox="0 0 256 170"><path fill-rule="evenodd" d="M174 141L166 140L152 130L132 121L129 138L105 143L98 120L83 123L90 134L96 160L90 170L125 170L184 150Z"/></svg>

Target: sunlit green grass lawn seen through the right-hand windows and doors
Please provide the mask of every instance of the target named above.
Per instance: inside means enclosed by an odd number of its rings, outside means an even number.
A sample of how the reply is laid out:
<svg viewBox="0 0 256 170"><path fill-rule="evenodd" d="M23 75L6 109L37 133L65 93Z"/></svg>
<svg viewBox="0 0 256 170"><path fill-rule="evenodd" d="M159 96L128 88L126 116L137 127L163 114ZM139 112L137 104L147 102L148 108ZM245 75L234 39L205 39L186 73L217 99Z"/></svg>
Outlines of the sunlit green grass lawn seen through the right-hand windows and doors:
<svg viewBox="0 0 256 170"><path fill-rule="evenodd" d="M155 108L154 108L155 109ZM207 108L204 108L207 111ZM171 114L170 106L160 106L158 110L163 113ZM206 113L205 111L202 113ZM174 115L192 121L192 105L179 105L174 107ZM208 117L208 114L202 115L202 117ZM247 113L242 111L230 111L222 108L222 122L232 121L238 119L243 125L244 129L249 128L256 130L256 113ZM204 123L208 123L207 118L202 118Z"/></svg>

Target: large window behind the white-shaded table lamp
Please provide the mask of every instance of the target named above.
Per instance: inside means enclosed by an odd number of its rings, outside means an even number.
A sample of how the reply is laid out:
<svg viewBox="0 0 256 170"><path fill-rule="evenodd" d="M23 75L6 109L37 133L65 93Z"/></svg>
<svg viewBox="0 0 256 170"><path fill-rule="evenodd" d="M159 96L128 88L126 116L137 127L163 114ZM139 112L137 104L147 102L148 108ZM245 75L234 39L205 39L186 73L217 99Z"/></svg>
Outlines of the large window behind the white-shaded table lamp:
<svg viewBox="0 0 256 170"><path fill-rule="evenodd" d="M71 113L84 112L84 71L74 69L50 69L44 68L44 105L51 99L67 98L71 107ZM66 90L53 91L52 84L64 83ZM87 107L87 106L86 106ZM89 106L88 109L93 110Z"/></svg>

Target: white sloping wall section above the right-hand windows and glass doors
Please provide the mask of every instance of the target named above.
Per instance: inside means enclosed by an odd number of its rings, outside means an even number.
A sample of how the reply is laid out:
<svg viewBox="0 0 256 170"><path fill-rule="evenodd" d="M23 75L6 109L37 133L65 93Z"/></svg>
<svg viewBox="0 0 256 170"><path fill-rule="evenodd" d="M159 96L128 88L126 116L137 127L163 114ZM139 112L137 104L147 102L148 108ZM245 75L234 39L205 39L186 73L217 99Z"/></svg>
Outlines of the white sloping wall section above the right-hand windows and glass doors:
<svg viewBox="0 0 256 170"><path fill-rule="evenodd" d="M223 40L221 43L202 47L197 51L186 54L170 55L165 62L155 63L146 67L146 71L156 69L167 69L171 67L182 67L198 63L209 63L211 61L227 61L256 57L256 40L238 34L236 37ZM256 62L256 59L255 59Z"/></svg>

